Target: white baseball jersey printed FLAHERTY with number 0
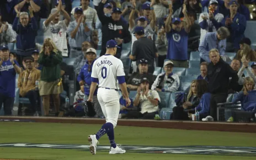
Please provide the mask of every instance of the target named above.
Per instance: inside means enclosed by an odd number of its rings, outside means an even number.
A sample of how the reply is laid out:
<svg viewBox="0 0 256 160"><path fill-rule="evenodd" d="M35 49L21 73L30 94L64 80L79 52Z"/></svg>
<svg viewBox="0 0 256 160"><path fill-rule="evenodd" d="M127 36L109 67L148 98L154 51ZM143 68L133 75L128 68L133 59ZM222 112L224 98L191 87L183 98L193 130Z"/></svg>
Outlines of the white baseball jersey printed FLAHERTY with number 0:
<svg viewBox="0 0 256 160"><path fill-rule="evenodd" d="M112 55L99 57L92 68L92 77L99 79L99 87L119 89L118 76L125 76L122 61Z"/></svg>

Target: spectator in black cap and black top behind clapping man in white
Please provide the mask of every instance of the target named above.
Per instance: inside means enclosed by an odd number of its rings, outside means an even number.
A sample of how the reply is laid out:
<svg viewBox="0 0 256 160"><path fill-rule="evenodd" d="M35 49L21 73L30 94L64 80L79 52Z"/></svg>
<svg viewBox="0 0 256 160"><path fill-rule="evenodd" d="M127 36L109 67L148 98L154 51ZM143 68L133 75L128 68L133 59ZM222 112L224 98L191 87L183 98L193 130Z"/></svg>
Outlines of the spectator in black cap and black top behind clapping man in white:
<svg viewBox="0 0 256 160"><path fill-rule="evenodd" d="M153 84L156 77L152 73L148 73L147 60L141 59L138 63L138 72L132 73L131 77L127 81L127 87L131 90L136 90L141 84L141 79L146 77L150 83L151 88L151 85Z"/></svg>

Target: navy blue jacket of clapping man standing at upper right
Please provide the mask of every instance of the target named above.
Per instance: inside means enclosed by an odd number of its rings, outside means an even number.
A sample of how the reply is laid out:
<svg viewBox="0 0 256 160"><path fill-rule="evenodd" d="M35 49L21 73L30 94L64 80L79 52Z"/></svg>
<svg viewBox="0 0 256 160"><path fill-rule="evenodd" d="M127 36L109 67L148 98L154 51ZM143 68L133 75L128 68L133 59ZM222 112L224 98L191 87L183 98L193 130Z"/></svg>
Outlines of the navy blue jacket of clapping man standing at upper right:
<svg viewBox="0 0 256 160"><path fill-rule="evenodd" d="M226 19L230 15L223 18L221 26L225 26ZM237 13L233 18L233 23L226 26L230 30L230 39L233 40L233 45L235 49L239 49L239 42L244 38L244 31L246 30L246 17L244 15Z"/></svg>

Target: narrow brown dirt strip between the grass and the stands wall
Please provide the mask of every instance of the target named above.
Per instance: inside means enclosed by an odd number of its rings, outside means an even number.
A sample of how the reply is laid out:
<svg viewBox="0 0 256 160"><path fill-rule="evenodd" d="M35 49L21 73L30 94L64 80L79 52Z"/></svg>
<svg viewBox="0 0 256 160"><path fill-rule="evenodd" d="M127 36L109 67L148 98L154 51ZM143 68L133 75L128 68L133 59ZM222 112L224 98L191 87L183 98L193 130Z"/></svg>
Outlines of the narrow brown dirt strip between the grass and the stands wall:
<svg viewBox="0 0 256 160"><path fill-rule="evenodd" d="M103 124L104 119L90 118L51 118L51 117L29 117L29 116L0 116L3 120L19 120L34 122L57 122L76 124ZM120 126L156 127L166 129L183 130L208 130L208 131L228 131L228 132L250 132L256 133L256 124L227 123L227 122L194 122L194 121L157 121L157 120L124 120L119 119ZM1 160L1 159L0 159Z"/></svg>

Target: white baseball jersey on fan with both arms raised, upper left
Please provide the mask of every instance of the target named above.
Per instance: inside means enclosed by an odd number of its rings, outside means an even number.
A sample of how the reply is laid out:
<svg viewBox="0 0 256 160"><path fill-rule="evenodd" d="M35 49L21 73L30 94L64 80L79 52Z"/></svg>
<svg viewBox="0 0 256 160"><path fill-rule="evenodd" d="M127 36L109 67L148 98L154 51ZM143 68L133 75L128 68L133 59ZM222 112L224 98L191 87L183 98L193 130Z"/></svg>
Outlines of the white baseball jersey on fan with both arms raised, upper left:
<svg viewBox="0 0 256 160"><path fill-rule="evenodd" d="M55 45L58 47L58 50L61 51L62 56L68 56L67 49L67 25L65 20L54 24L52 22L46 27L45 22L43 23L44 29L44 38L50 38L55 42Z"/></svg>

